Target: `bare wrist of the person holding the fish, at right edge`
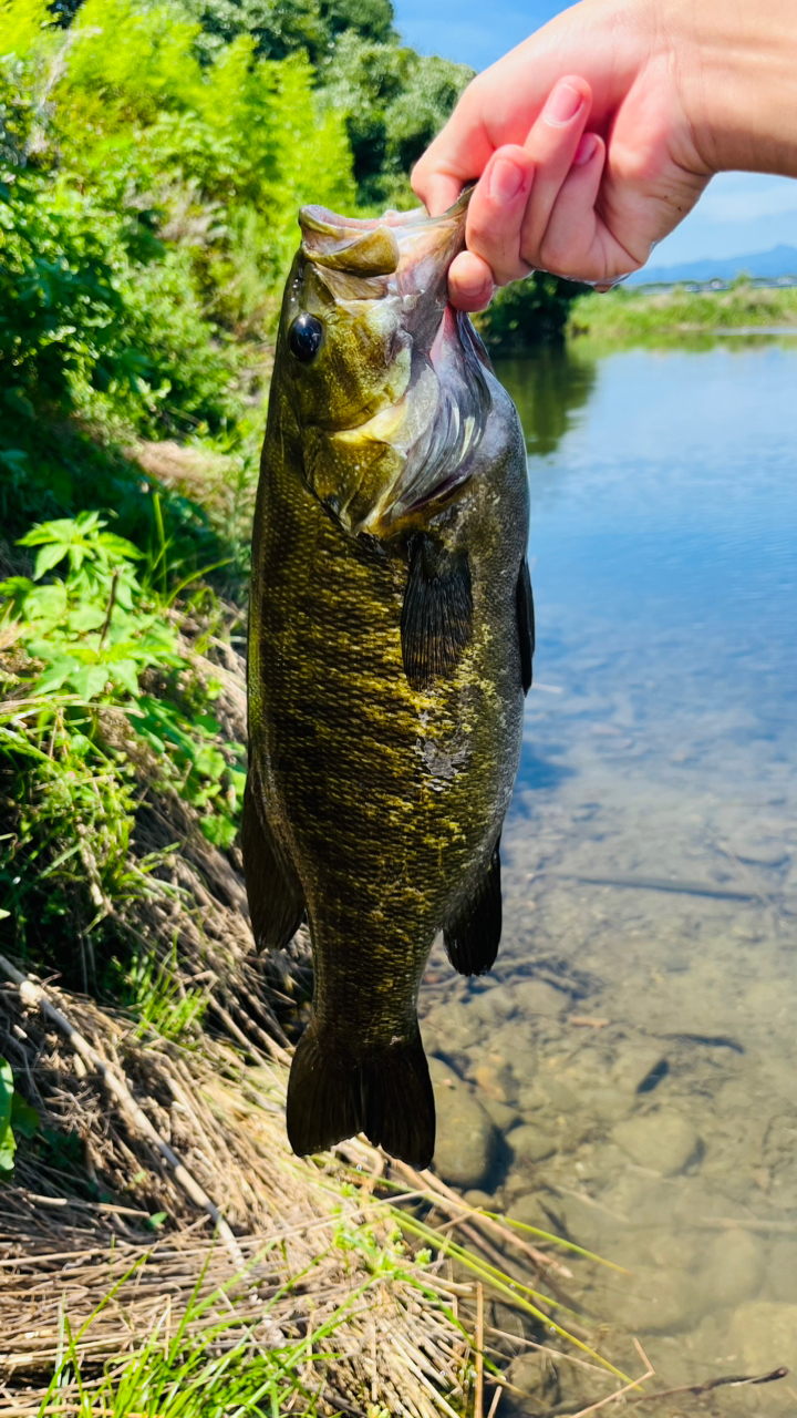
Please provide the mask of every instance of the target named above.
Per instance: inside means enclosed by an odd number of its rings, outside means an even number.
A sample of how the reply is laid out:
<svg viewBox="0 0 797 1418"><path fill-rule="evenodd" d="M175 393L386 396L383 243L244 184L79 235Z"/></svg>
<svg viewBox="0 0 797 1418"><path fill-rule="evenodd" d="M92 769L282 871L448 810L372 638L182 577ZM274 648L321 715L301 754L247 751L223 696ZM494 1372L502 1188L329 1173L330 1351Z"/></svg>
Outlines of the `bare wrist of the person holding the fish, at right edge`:
<svg viewBox="0 0 797 1418"><path fill-rule="evenodd" d="M676 0L676 9L684 108L706 170L797 177L796 0L767 0L766 10L762 0Z"/></svg>

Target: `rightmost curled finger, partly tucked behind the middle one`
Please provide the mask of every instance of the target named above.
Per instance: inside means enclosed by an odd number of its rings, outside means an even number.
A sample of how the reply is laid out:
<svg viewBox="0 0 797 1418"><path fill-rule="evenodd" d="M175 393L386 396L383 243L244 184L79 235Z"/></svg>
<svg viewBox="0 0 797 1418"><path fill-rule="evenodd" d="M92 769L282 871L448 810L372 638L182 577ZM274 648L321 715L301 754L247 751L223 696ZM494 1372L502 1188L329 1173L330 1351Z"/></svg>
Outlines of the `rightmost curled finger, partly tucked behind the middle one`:
<svg viewBox="0 0 797 1418"><path fill-rule="evenodd" d="M597 216L604 162L603 140L584 133L537 252L545 271L573 281L611 282L640 264Z"/></svg>

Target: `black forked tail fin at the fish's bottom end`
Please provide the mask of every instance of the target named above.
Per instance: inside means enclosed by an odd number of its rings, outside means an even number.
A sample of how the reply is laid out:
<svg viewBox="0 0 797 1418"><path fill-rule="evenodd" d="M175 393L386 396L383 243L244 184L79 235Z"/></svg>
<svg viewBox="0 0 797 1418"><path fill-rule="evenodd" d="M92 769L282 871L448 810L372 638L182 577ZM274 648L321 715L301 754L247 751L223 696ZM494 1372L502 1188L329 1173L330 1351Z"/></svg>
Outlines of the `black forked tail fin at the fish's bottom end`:
<svg viewBox="0 0 797 1418"><path fill-rule="evenodd" d="M288 1081L288 1140L299 1156L364 1133L411 1167L434 1156L434 1093L418 1021L390 1044L353 1054L313 1020Z"/></svg>

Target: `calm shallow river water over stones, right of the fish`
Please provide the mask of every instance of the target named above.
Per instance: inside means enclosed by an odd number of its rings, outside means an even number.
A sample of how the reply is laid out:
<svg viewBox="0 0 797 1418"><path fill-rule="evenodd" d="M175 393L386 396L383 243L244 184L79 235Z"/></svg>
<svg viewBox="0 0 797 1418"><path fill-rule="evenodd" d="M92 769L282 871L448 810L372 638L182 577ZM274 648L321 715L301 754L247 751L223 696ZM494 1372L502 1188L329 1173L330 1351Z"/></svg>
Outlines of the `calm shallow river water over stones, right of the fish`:
<svg viewBox="0 0 797 1418"><path fill-rule="evenodd" d="M498 373L535 688L499 960L468 983L435 951L424 1038L501 1127L474 1200L628 1268L572 1265L604 1353L638 1373L637 1334L671 1384L797 1370L797 349ZM535 1363L519 1411L607 1392ZM797 1380L702 1402L655 1412L797 1412Z"/></svg>

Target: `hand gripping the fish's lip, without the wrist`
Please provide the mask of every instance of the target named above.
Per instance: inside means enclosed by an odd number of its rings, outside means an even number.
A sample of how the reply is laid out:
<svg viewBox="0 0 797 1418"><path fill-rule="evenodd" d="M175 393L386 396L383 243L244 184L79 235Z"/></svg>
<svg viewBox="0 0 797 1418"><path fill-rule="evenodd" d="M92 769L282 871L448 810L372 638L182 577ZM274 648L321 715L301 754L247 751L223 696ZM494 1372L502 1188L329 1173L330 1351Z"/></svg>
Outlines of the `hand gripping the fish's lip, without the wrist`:
<svg viewBox="0 0 797 1418"><path fill-rule="evenodd" d="M581 0L479 74L413 173L433 216L478 179L454 305L530 268L600 286L644 265L719 166L703 60L689 0Z"/></svg>

